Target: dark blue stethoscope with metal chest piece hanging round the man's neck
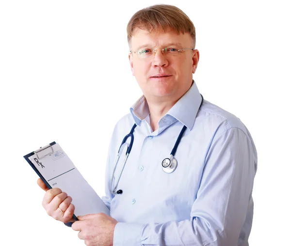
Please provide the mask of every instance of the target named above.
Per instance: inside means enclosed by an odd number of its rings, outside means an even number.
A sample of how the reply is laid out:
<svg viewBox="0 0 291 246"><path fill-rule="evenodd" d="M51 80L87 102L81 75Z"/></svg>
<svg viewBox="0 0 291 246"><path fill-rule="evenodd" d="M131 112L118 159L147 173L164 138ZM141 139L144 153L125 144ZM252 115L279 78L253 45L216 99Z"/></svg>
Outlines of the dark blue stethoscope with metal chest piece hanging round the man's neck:
<svg viewBox="0 0 291 246"><path fill-rule="evenodd" d="M201 94L200 94L201 95ZM200 106L199 106L199 109L201 108L201 105L204 101L203 99L203 96L201 95L202 97L202 100L201 100L201 103L200 103ZM134 129L136 128L136 124L133 125L133 127L131 128L129 134L127 134L124 139L122 140L122 143L119 147L119 150L118 150L118 153L117 153L117 156L116 156L116 159L115 159L115 164L114 164L114 169L113 169L113 174L112 174L112 178L111 178L111 183L110 183L110 192L112 194L122 194L122 190L119 189L116 191L117 189L117 186L118 186L118 183L119 183L119 180L120 180L120 177L121 177L121 174L123 172L123 169L125 167L125 164L126 164L126 161L127 159L129 158L129 153L131 151L131 148L132 148L132 145L133 145L133 139L134 139L134 136L133 136L133 131ZM178 161L177 159L174 157L175 154L176 154L176 151L177 151L177 148L178 148L178 145L181 141L181 138L184 134L184 131L187 129L186 126L183 126L182 130L180 131L180 134L178 136L178 139L174 145L174 148L172 149L172 152L170 154L170 157L169 158L165 158L162 160L162 170L167 173L167 174L171 174L175 171L175 169L177 168L177 165L178 165ZM127 139L130 137L130 143L126 143ZM116 181L116 184L115 184L115 187L114 189L112 190L112 183L113 183L113 178L114 178L114 173L115 173L115 169L116 169L116 166L117 166L117 163L118 163L118 160L123 152L123 149L125 148L125 146L127 146L127 151L126 151L126 156L125 156L125 159L123 161L123 165L122 165L122 168L120 170L120 173L117 177L117 181Z"/></svg>

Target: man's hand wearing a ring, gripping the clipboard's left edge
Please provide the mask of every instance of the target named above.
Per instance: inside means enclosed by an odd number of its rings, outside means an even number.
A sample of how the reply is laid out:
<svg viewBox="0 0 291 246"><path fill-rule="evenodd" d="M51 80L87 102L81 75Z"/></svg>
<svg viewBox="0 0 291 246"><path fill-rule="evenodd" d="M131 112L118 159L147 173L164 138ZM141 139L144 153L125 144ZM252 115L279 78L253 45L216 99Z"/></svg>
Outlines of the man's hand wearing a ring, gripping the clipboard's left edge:
<svg viewBox="0 0 291 246"><path fill-rule="evenodd" d="M37 180L37 184L46 191L42 205L49 216L64 223L75 221L73 219L75 206L71 203L70 196L59 188L49 189L40 178Z"/></svg>

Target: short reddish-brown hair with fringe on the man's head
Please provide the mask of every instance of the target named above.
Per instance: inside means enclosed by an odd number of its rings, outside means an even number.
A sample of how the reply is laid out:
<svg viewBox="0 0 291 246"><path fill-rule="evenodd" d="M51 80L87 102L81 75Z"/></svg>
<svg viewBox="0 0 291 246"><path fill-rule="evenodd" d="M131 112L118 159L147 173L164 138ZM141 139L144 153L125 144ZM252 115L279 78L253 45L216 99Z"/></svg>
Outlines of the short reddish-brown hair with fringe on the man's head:
<svg viewBox="0 0 291 246"><path fill-rule="evenodd" d="M131 37L136 28L145 29L148 32L162 29L164 32L177 31L177 34L189 33L193 40L193 48L195 47L196 34L193 22L183 11L173 5L157 4L136 12L127 26L129 46L131 46Z"/></svg>

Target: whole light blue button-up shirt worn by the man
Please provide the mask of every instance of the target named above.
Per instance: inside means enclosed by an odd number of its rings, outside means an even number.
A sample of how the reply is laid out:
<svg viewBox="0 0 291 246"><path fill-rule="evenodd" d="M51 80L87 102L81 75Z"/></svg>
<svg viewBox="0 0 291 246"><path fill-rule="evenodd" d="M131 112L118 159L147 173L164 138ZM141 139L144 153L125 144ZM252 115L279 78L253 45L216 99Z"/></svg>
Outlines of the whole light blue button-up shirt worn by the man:
<svg viewBox="0 0 291 246"><path fill-rule="evenodd" d="M198 110L201 100L194 83L152 132L141 97L116 124L102 198L118 221L114 246L248 245L256 147L239 118L206 100ZM133 147L117 188L123 193L112 195L114 161L134 123ZM167 174L162 160L170 157L184 125L175 155L178 167ZM124 155L115 182L123 160Z"/></svg>

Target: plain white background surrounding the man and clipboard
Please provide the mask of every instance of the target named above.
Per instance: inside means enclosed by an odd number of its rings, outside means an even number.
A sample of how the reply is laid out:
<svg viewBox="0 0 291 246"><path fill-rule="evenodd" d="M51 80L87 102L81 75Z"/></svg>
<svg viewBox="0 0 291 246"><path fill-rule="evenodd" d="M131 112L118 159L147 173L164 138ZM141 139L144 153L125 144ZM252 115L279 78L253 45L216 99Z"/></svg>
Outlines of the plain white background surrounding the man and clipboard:
<svg viewBox="0 0 291 246"><path fill-rule="evenodd" d="M168 0L194 22L204 98L239 117L259 164L250 246L290 243L290 11L286 1ZM0 245L83 245L47 216L25 154L60 143L97 193L117 120L141 90L126 26L139 1L0 1Z"/></svg>

